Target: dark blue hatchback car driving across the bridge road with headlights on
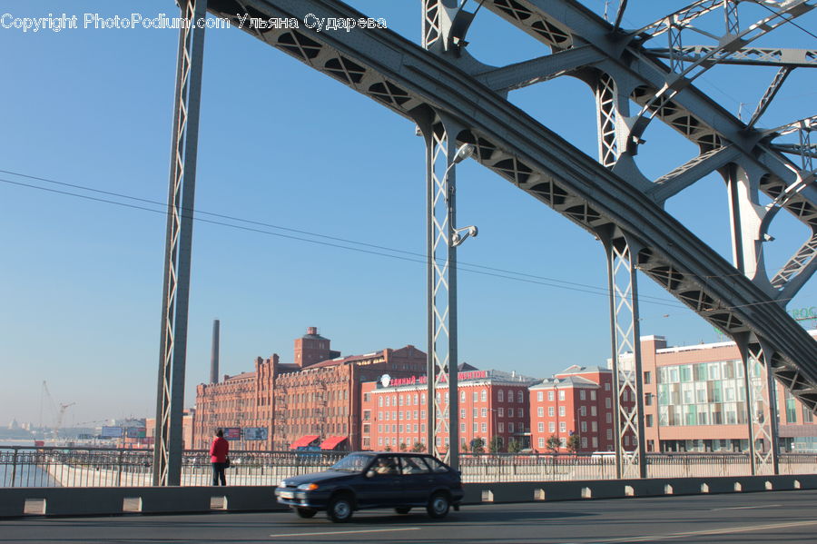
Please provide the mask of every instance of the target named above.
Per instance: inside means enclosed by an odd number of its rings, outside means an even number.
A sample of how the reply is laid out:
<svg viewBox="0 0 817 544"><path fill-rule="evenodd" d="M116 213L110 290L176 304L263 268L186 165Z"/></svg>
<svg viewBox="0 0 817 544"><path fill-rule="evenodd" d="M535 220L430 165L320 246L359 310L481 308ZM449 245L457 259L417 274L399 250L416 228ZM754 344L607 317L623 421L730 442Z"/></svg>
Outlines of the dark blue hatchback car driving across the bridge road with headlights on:
<svg viewBox="0 0 817 544"><path fill-rule="evenodd" d="M459 509L463 497L459 472L425 453L361 451L330 470L281 480L275 496L301 518L326 510L332 521L349 521L358 509L393 508L408 514L424 507L435 519Z"/></svg>

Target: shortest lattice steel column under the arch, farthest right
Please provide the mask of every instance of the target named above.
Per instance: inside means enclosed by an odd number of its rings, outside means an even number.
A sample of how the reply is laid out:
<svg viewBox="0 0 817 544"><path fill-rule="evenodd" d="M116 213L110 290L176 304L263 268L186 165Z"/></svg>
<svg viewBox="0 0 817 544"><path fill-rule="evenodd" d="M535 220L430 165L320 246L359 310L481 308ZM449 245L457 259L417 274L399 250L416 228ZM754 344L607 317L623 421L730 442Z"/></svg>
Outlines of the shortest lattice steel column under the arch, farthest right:
<svg viewBox="0 0 817 544"><path fill-rule="evenodd" d="M772 351L765 342L750 341L746 335L737 338L736 343L743 359L752 475L778 474L777 395L770 366Z"/></svg>

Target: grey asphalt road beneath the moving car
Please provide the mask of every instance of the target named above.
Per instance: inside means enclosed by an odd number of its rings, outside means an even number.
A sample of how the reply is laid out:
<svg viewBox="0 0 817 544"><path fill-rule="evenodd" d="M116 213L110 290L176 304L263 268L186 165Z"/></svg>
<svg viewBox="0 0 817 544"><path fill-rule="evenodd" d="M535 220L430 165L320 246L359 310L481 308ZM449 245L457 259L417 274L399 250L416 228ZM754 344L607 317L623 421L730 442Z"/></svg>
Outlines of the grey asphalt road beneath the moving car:
<svg viewBox="0 0 817 544"><path fill-rule="evenodd" d="M199 543L381 542L384 544L623 544L817 542L817 491L767 491L659 499L466 506L433 521L425 511L356 512L350 523L323 513L0 520L0 542Z"/></svg>

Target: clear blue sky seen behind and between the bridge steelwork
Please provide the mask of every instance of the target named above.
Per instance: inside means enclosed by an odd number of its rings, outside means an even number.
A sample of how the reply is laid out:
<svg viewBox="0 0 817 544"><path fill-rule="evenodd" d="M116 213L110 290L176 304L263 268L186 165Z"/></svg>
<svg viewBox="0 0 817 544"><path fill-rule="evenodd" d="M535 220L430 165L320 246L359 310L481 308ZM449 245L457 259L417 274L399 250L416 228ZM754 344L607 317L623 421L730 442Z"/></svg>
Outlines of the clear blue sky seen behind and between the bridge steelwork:
<svg viewBox="0 0 817 544"><path fill-rule="evenodd" d="M418 41L418 2L352 4ZM586 4L597 13L604 9L601 0ZM629 4L625 26L636 27L684 2ZM15 17L64 11L80 19L133 11L153 17L174 16L176 7L172 0L15 0L0 10ZM762 8L747 13L763 16ZM798 22L817 28L813 14ZM487 10L468 38L469 51L487 64L547 53ZM0 28L0 170L164 202L176 43L172 30L24 34ZM817 39L787 25L758 45L817 49ZM424 152L412 124L236 29L208 32L205 49L197 209L425 251ZM731 112L746 103L745 114L774 72L718 67L698 84ZM814 114L814 82L813 70L795 71L762 124ZM596 157L593 95L585 84L558 78L510 99ZM690 143L660 123L645 138L638 162L653 178L694 156ZM55 401L76 402L65 418L69 425L153 416L163 215L8 182L158 207L10 173L0 179L0 424L38 422L42 381ZM675 197L668 210L731 259L726 195L717 176ZM478 238L461 247L461 262L554 280L461 272L461 361L540 377L570 364L605 363L609 309L598 242L473 162L458 169L458 219L479 227ZM767 267L774 271L807 232L781 217L772 233L777 241L766 244ZM188 405L195 384L208 377L216 318L222 373L251 370L256 356L273 352L291 361L292 341L308 326L319 327L344 354L408 343L426 349L420 262L201 222L194 227L192 262ZM640 282L642 294L655 297L641 306L643 334L665 335L676 345L718 340L711 326L649 279ZM812 305L817 289L808 284L790 307ZM43 419L50 422L48 410Z"/></svg>

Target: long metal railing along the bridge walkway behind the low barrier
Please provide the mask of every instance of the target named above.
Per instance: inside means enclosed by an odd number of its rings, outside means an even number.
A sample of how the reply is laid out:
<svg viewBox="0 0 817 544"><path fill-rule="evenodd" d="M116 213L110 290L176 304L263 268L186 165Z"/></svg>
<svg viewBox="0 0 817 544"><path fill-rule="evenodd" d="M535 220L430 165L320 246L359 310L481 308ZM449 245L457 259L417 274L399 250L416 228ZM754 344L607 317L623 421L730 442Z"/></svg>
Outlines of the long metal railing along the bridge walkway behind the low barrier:
<svg viewBox="0 0 817 544"><path fill-rule="evenodd" d="M276 485L282 478L326 469L338 451L231 451L229 485ZM744 453L650 453L648 478L745 476ZM614 480L613 455L462 454L465 482ZM817 455L784 453L781 474L817 473ZM0 487L141 487L153 483L153 450L0 446ZM210 455L188 450L182 485L212 484Z"/></svg>

